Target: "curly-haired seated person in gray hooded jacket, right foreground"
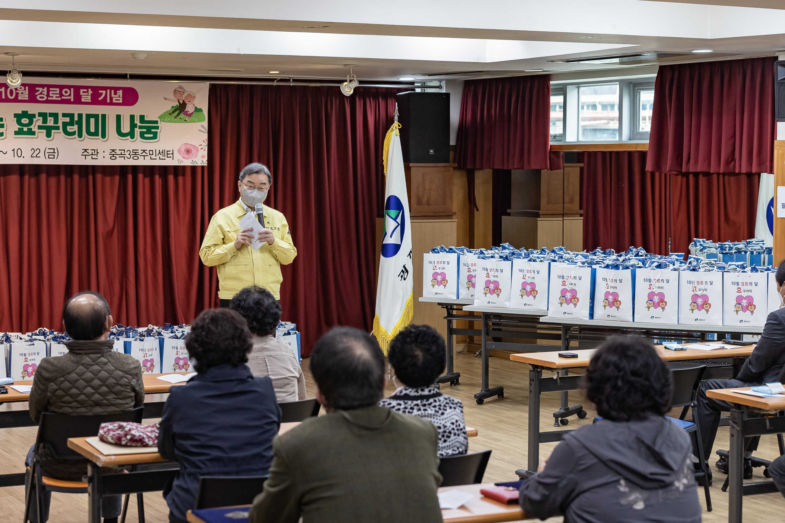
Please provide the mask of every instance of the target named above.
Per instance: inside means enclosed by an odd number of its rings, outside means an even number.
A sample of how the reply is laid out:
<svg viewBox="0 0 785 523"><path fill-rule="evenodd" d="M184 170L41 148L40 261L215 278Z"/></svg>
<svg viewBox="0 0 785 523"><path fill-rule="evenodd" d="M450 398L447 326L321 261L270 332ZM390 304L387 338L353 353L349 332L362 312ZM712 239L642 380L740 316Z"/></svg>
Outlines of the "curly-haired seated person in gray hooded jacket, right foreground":
<svg viewBox="0 0 785 523"><path fill-rule="evenodd" d="M673 378L651 343L605 340L586 369L603 419L564 434L520 487L520 507L571 523L697 523L701 507L684 429L665 417Z"/></svg>

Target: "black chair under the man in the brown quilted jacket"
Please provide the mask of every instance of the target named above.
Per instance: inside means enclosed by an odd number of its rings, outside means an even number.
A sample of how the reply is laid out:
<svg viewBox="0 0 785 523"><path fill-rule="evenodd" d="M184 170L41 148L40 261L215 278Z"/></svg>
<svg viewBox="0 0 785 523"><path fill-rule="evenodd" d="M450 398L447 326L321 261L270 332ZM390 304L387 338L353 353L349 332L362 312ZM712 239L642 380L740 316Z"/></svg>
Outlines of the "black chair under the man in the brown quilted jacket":
<svg viewBox="0 0 785 523"><path fill-rule="evenodd" d="M82 438L95 436L101 423L111 423L115 421L132 421L141 423L142 411L144 407L137 407L118 414L107 414L101 416L66 416L64 414L53 414L52 412L42 412L41 421L38 422L38 436L35 438L33 448L33 463L25 478L27 495L24 498L24 523L29 521L30 501L32 492L35 489L36 508L38 518L43 514L44 492L68 492L72 494L85 494L87 484L82 481L64 481L47 478L43 475L41 467L41 456L38 449L45 446L49 453L57 459L74 459L87 463L87 459L68 448L68 438ZM129 496L129 495L126 495ZM137 499L141 497L141 492L137 494ZM144 521L144 504L139 500L139 521ZM126 497L125 507L128 506ZM122 518L125 520L125 509Z"/></svg>

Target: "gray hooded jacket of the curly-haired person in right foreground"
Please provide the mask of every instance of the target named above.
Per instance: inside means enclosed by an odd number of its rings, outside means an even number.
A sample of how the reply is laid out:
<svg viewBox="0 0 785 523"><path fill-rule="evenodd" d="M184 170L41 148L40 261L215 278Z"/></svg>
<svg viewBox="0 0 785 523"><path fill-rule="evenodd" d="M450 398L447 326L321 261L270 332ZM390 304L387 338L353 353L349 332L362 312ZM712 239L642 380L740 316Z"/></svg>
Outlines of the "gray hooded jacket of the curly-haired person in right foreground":
<svg viewBox="0 0 785 523"><path fill-rule="evenodd" d="M701 507L685 431L665 417L573 430L520 487L528 516L564 523L694 523Z"/></svg>

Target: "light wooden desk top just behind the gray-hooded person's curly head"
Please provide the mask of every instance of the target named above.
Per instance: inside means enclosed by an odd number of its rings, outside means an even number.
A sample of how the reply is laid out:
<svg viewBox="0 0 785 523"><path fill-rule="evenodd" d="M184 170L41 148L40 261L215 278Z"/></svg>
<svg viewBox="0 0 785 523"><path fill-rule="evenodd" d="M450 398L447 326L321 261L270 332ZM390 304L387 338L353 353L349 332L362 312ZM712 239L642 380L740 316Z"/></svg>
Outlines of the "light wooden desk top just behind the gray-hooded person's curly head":
<svg viewBox="0 0 785 523"><path fill-rule="evenodd" d="M706 343L717 343L710 341ZM695 343L690 343L695 344ZM703 343L701 343L703 344ZM717 349L717 350L667 350L662 345L655 345L654 348L659 353L659 357L665 361L681 361L681 360L704 360L711 358L744 358L752 354L754 345L747 345L734 347L732 349ZM513 361L522 361L530 365L540 365L546 369L578 369L580 367L589 366L589 360L594 354L594 349L587 350L569 350L578 354L578 358L559 358L559 353L553 352L529 352L524 354L510 354L509 359ZM734 396L741 394L734 394ZM750 396L751 398L751 396Z"/></svg>

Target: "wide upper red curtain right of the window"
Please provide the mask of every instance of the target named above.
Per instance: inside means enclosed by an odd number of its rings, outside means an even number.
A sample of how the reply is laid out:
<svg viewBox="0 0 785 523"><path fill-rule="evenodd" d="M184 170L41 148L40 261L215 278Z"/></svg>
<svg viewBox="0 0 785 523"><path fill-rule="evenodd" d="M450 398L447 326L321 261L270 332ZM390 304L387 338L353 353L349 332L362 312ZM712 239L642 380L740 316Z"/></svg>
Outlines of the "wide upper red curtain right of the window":
<svg viewBox="0 0 785 523"><path fill-rule="evenodd" d="M646 169L772 173L775 60L659 66Z"/></svg>

